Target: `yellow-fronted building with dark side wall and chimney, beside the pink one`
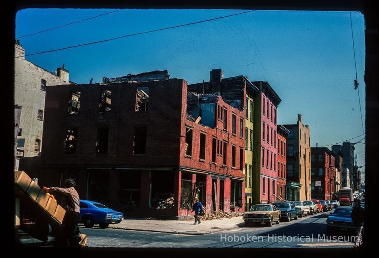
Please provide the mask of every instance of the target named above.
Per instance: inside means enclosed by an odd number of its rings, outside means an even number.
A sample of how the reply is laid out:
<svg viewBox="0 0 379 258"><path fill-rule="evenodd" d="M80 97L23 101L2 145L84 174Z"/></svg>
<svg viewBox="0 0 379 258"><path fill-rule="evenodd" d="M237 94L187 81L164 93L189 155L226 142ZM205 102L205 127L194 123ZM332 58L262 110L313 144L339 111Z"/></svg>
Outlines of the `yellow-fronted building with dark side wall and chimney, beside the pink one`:
<svg viewBox="0 0 379 258"><path fill-rule="evenodd" d="M254 98L259 89L255 87L246 76L240 75L235 77L224 78L222 69L213 69L210 71L209 82L195 83L188 85L189 92L206 93L221 96L228 104L238 109L245 109L245 129L241 132L245 138L245 162L244 162L244 201L246 210L253 202L253 138L254 138ZM243 123L243 121L239 121Z"/></svg>

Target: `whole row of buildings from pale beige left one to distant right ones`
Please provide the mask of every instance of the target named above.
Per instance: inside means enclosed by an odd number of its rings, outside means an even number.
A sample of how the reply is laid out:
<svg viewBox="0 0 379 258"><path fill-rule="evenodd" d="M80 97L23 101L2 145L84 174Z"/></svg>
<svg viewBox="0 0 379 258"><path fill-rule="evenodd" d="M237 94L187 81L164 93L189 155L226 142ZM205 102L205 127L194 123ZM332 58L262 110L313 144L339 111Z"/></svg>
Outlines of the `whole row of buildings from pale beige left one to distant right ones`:
<svg viewBox="0 0 379 258"><path fill-rule="evenodd" d="M195 195L209 213L245 211L320 189L328 198L338 185L315 174L302 115L277 124L281 98L268 82L213 69L209 82L189 85L167 70L76 84L64 67L53 74L22 57L15 74L17 157L40 185L71 177L81 199L178 219L193 215Z"/></svg>

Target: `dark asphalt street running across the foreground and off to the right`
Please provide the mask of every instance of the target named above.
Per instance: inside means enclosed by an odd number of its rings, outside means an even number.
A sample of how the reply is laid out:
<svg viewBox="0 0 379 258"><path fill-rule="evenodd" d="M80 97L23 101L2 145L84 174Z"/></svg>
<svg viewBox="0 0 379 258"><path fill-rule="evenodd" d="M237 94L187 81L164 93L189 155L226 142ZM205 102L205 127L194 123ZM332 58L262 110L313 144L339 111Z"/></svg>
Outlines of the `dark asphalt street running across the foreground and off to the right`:
<svg viewBox="0 0 379 258"><path fill-rule="evenodd" d="M326 219L330 212L281 222L272 227L246 227L205 235L183 235L122 229L84 228L88 247L135 248L352 248L349 235L326 234ZM206 223L206 222L204 222ZM196 226L193 226L196 228Z"/></svg>

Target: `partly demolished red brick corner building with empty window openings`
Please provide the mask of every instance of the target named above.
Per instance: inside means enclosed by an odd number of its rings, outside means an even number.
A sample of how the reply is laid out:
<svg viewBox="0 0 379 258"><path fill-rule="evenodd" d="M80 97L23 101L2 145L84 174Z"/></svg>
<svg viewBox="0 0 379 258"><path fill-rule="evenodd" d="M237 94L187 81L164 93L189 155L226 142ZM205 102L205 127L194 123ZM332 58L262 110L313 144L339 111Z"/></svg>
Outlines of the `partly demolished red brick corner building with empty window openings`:
<svg viewBox="0 0 379 258"><path fill-rule="evenodd" d="M125 213L193 216L195 195L207 212L243 211L244 116L182 79L50 87L33 173L51 186L74 177L81 199Z"/></svg>

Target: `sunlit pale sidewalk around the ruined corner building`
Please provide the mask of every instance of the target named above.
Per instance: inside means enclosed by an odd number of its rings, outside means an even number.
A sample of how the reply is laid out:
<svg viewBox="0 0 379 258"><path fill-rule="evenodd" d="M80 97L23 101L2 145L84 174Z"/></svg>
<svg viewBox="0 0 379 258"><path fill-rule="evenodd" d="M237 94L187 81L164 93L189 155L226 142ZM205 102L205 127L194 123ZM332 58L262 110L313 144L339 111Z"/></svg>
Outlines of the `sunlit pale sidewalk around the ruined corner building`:
<svg viewBox="0 0 379 258"><path fill-rule="evenodd" d="M194 220L146 220L144 218L126 218L119 224L109 225L109 228L151 231L162 233L175 233L187 235L204 235L223 230L230 230L244 225L241 217L230 219L215 219L201 221L201 224L193 225Z"/></svg>

